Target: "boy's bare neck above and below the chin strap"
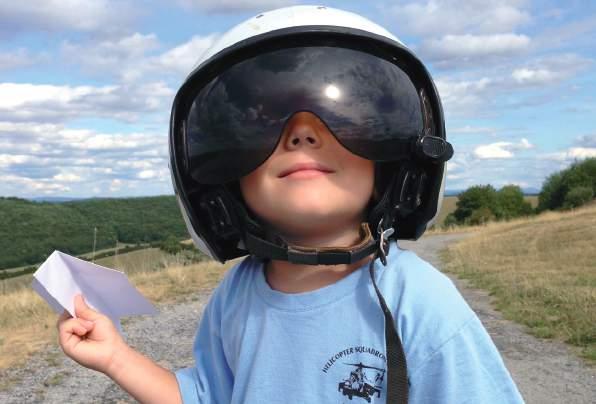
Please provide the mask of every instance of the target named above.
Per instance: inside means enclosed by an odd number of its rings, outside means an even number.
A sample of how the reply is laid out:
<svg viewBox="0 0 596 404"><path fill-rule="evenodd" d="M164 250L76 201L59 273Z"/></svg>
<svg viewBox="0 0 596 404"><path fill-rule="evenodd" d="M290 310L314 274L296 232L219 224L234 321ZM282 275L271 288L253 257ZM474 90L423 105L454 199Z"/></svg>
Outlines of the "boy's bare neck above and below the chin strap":
<svg viewBox="0 0 596 404"><path fill-rule="evenodd" d="M308 246L351 246L360 240L358 231L344 234L333 240L317 240L296 243ZM265 267L265 276L269 286L284 293L301 293L320 289L345 278L372 259L372 255L353 264L305 265L287 261L271 260Z"/></svg>

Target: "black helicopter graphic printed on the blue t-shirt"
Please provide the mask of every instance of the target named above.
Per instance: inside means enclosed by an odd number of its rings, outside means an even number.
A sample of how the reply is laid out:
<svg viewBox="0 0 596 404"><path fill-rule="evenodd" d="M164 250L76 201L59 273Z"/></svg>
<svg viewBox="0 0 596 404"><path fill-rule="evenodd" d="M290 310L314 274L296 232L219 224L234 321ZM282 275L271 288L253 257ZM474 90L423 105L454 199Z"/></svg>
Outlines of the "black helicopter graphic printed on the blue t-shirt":
<svg viewBox="0 0 596 404"><path fill-rule="evenodd" d="M350 371L350 375L346 379L339 382L337 391L341 392L344 396L348 396L350 400L355 396L364 398L369 403L371 402L371 397L374 397L375 394L377 397L381 397L385 369L367 366L362 362L344 363L344 365L354 366L355 369ZM365 369L374 369L376 371L375 376L371 379Z"/></svg>

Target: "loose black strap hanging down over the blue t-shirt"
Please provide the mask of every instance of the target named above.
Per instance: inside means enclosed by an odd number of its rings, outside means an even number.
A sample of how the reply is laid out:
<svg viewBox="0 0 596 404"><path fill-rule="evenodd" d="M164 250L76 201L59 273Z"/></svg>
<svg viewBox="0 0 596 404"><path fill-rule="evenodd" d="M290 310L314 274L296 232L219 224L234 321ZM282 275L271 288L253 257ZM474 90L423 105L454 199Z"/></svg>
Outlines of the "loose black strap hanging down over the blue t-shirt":
<svg viewBox="0 0 596 404"><path fill-rule="evenodd" d="M406 355L399 335L397 334L391 310L387 307L387 303L385 303L385 299L377 287L377 282L375 280L375 261L377 257L378 254L375 254L368 269L373 286L375 287L375 292L377 292L379 304L381 305L383 315L385 316L385 350L387 353L386 402L388 404L407 404L409 383Z"/></svg>

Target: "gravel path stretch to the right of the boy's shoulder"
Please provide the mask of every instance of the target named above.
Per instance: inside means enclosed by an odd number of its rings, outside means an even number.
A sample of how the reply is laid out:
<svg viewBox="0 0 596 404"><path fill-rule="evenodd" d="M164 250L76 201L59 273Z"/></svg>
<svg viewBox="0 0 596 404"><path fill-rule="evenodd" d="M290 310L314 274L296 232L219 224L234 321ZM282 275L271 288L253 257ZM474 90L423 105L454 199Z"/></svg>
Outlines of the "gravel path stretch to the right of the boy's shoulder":
<svg viewBox="0 0 596 404"><path fill-rule="evenodd" d="M441 268L438 252L462 237L438 235L399 244ZM503 319L486 292L447 275L488 330L527 403L596 403L596 369L586 366L565 344L526 334L523 326Z"/></svg>

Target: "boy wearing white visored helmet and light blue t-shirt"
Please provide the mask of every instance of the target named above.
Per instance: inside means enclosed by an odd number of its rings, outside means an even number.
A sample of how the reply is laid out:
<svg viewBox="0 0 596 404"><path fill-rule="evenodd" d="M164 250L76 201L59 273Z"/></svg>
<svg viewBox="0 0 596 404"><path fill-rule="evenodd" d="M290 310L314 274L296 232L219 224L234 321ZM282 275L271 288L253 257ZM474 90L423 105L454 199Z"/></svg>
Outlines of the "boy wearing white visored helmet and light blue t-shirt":
<svg viewBox="0 0 596 404"><path fill-rule="evenodd" d="M394 242L438 212L452 153L428 72L383 28L315 6L256 16L172 110L195 244L250 254L205 309L196 365L159 367L81 297L61 346L141 402L521 402L451 282Z"/></svg>

